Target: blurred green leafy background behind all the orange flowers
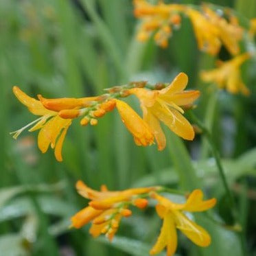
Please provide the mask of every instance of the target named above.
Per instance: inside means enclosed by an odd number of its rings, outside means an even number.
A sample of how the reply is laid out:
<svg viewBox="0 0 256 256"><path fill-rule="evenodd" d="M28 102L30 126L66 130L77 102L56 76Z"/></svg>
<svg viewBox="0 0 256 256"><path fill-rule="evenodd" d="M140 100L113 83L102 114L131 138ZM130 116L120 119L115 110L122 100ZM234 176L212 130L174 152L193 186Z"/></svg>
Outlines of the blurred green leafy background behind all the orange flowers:
<svg viewBox="0 0 256 256"><path fill-rule="evenodd" d="M256 16L255 0L211 2L234 8L245 19ZM216 91L198 78L215 58L198 51L186 17L163 50L153 41L135 40L138 21L132 10L130 0L0 1L0 255L148 255L161 224L152 208L123 220L112 244L103 237L92 239L88 226L68 229L69 218L86 206L75 191L78 179L94 189L102 184L110 189L202 187L207 197L218 198L214 219L233 224L215 162L200 135L184 143L167 130L163 152L156 146L137 147L114 111L95 127L81 127L75 120L64 161L58 163L51 150L40 153L36 132L23 132L16 141L8 134L34 120L12 94L13 85L33 97L84 97L132 80L170 82L180 71L189 75L189 89L202 92L196 114L213 132L242 231L199 216L211 233L211 246L200 249L181 235L177 255L256 255L254 61L243 70L250 97ZM220 57L229 58L224 49ZM139 111L135 99L128 102Z"/></svg>

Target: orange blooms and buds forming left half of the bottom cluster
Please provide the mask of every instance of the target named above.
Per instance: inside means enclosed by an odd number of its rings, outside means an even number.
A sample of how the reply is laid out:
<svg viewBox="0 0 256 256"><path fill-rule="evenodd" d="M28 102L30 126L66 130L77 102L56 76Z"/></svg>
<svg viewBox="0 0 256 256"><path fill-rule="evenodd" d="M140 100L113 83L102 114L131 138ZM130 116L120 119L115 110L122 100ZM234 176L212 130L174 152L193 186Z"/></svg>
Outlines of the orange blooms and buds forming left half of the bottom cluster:
<svg viewBox="0 0 256 256"><path fill-rule="evenodd" d="M92 222L89 231L91 235L97 237L105 233L109 240L113 239L121 218L132 214L128 206L135 205L143 208L146 206L146 199L138 203L139 196L157 189L157 187L141 187L124 191L108 191L105 186L102 186L101 191L95 191L82 181L76 183L76 188L81 196L91 199L91 202L71 218L71 226L79 229L84 224Z"/></svg>

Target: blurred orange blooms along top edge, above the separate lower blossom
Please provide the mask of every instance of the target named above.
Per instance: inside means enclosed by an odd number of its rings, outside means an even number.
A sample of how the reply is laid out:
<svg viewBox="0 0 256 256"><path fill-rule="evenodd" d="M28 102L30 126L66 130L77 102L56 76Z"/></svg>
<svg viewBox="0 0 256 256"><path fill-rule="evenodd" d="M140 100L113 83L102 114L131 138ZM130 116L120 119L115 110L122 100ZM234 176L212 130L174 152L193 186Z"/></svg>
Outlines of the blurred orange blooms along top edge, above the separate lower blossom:
<svg viewBox="0 0 256 256"><path fill-rule="evenodd" d="M226 11L224 16L202 5L202 10L198 10L190 5L176 3L165 4L159 1L156 5L148 3L146 0L135 0L134 14L141 19L138 39L148 40L154 34L157 45L167 47L167 39L172 34L172 27L180 27L181 14L187 16L193 27L198 48L209 54L216 55L224 45L233 54L239 54L239 41L242 39L242 27L240 27L236 17Z"/></svg>

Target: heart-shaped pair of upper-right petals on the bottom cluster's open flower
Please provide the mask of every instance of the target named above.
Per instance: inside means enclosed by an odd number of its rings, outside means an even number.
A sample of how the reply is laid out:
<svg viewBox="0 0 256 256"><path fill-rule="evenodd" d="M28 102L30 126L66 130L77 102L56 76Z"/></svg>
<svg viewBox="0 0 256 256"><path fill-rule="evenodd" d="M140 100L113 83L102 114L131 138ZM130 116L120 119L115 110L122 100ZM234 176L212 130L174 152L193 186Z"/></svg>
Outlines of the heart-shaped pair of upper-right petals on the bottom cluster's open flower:
<svg viewBox="0 0 256 256"><path fill-rule="evenodd" d="M184 211L206 211L216 205L216 198L209 200L202 200L204 194L202 190L195 189L187 198L187 202L184 205Z"/></svg>

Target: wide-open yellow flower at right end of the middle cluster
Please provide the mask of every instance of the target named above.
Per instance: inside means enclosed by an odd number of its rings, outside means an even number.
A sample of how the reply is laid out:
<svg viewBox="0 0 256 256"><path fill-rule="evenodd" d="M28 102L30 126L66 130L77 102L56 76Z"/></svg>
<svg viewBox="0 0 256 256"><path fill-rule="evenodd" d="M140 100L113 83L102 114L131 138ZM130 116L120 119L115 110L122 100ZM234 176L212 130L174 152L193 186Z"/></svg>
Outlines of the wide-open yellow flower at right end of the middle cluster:
<svg viewBox="0 0 256 256"><path fill-rule="evenodd" d="M159 150L163 150L166 145L159 121L163 121L170 130L183 139L194 139L194 130L189 121L183 117L184 110L180 106L192 104L199 97L200 92L183 91L187 81L187 75L179 73L169 86L159 91L143 88L130 89L130 93L135 94L141 102L143 120L153 131Z"/></svg>

